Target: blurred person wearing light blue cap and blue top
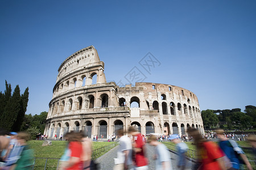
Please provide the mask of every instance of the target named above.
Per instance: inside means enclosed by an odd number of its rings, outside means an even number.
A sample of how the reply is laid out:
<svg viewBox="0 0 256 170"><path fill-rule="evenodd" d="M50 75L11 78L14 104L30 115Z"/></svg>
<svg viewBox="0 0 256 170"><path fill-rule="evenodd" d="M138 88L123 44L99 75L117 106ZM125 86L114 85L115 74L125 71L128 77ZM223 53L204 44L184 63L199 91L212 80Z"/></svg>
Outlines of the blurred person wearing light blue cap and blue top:
<svg viewBox="0 0 256 170"><path fill-rule="evenodd" d="M176 151L178 153L178 162L177 162L177 167L179 169L185 169L186 167L186 163L187 163L187 159L186 159L186 153L187 153L187 149L188 146L187 144L185 144L184 142L181 142L179 139L179 135L177 134L173 134L171 135L171 137L169 138L172 142L175 143L176 145Z"/></svg>

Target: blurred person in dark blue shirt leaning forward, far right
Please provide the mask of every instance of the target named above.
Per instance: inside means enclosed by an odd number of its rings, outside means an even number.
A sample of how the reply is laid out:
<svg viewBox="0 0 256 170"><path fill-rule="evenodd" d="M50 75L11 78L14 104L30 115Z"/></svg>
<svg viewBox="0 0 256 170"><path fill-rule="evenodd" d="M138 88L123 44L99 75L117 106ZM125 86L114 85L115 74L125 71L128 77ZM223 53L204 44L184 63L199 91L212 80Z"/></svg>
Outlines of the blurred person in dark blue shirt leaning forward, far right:
<svg viewBox="0 0 256 170"><path fill-rule="evenodd" d="M233 139L229 139L224 136L224 130L217 129L216 134L220 139L218 145L232 163L232 168L229 168L229 170L240 169L240 164L246 164L246 167L249 170L253 169L251 168L251 164L249 163L245 152L243 152L241 147L239 147Z"/></svg>

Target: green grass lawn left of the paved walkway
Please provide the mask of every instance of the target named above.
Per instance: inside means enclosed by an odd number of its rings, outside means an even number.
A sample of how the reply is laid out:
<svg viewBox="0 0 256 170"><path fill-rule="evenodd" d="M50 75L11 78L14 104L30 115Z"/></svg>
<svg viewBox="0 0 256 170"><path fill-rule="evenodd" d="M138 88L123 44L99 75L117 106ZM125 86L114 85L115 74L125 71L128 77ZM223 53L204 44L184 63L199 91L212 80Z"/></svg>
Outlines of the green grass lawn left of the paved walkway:
<svg viewBox="0 0 256 170"><path fill-rule="evenodd" d="M52 141L51 146L42 146L43 141L28 141L30 148L34 150L35 158L60 158L64 154L65 147L67 147L66 141ZM93 150L111 145L115 142L93 142ZM111 147L112 148L112 147ZM109 150L111 148L108 148ZM106 151L97 152L96 158L104 155ZM94 159L96 159L94 158ZM58 159L48 159L46 169L56 169ZM35 159L34 169L44 169L46 159Z"/></svg>

